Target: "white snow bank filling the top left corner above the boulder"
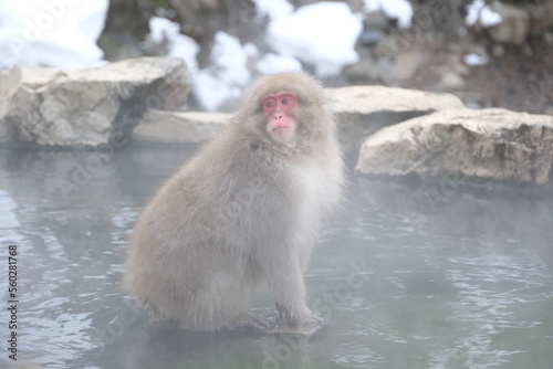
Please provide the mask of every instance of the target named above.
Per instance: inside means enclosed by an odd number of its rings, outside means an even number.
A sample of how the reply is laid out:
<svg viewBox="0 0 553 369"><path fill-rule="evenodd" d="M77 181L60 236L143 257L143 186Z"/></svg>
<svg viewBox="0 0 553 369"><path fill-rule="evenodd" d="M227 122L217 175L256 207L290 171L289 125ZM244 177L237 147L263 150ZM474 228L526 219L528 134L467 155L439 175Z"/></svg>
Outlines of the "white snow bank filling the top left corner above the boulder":
<svg viewBox="0 0 553 369"><path fill-rule="evenodd" d="M108 0L0 0L0 68L14 64L62 70L104 64L96 45Z"/></svg>

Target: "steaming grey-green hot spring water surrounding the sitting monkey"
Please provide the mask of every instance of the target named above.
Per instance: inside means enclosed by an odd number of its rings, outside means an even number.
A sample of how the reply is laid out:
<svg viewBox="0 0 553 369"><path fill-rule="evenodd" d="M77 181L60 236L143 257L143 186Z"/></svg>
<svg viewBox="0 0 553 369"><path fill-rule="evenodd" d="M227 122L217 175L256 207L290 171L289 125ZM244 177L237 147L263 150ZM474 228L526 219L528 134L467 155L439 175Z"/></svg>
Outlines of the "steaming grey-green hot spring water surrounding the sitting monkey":
<svg viewBox="0 0 553 369"><path fill-rule="evenodd" d="M553 199L455 181L352 186L306 276L311 306L331 321L311 342L148 325L119 291L126 240L192 151L132 146L91 167L94 152L0 149L0 242L20 251L21 359L49 368L551 366ZM255 306L273 309L269 297Z"/></svg>

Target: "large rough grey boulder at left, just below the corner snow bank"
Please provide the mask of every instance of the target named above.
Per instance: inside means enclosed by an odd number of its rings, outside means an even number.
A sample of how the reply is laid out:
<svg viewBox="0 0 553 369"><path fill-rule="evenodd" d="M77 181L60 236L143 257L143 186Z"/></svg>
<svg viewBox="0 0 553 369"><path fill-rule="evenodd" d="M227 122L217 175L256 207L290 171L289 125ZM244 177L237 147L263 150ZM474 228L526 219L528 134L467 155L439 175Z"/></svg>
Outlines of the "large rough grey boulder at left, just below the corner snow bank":
<svg viewBox="0 0 553 369"><path fill-rule="evenodd" d="M140 57L80 71L21 67L21 86L0 126L12 139L98 146L125 136L150 108L179 109L189 80L184 62Z"/></svg>

